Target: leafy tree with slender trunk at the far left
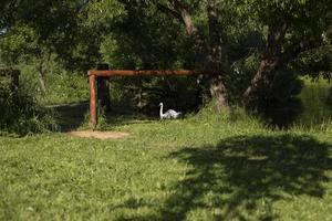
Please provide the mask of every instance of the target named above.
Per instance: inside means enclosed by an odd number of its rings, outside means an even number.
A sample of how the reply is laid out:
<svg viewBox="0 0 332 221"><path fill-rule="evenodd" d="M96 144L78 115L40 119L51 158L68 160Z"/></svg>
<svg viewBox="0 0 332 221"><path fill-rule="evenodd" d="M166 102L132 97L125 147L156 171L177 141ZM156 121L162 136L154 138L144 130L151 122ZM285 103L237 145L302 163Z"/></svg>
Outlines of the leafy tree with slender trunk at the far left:
<svg viewBox="0 0 332 221"><path fill-rule="evenodd" d="M52 54L72 48L76 28L76 1L4 1L1 28L1 55L8 65L19 62L35 64L41 91L45 92L45 74Z"/></svg>

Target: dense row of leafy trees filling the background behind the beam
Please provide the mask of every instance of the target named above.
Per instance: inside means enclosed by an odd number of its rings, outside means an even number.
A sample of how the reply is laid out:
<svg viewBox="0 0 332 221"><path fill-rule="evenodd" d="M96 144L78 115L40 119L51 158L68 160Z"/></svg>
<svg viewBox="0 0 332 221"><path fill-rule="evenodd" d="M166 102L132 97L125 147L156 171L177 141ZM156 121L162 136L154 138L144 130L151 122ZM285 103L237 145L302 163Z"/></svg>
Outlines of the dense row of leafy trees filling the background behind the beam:
<svg viewBox="0 0 332 221"><path fill-rule="evenodd" d="M33 64L41 91L46 91L50 64L79 73L97 62L114 69L211 71L216 75L200 80L200 85L193 77L183 82L138 77L117 80L114 90L128 85L131 96L141 97L134 101L141 107L163 97L185 106L175 92L187 87L191 92L184 93L200 101L210 91L219 109L237 103L268 113L276 104L293 103L301 90L299 75L331 76L331 3L2 1L1 63ZM144 102L138 101L142 97Z"/></svg>

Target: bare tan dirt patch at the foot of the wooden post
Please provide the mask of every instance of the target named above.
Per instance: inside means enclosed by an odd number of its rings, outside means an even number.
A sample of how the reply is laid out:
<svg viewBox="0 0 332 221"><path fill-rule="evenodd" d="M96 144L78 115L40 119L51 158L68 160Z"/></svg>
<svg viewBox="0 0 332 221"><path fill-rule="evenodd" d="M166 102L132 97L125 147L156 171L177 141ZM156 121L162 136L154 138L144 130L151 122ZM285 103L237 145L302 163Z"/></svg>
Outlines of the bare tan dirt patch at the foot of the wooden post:
<svg viewBox="0 0 332 221"><path fill-rule="evenodd" d="M70 131L68 134L74 137L96 138L96 139L121 139L129 136L128 133L122 133L122 131L93 131L93 130Z"/></svg>

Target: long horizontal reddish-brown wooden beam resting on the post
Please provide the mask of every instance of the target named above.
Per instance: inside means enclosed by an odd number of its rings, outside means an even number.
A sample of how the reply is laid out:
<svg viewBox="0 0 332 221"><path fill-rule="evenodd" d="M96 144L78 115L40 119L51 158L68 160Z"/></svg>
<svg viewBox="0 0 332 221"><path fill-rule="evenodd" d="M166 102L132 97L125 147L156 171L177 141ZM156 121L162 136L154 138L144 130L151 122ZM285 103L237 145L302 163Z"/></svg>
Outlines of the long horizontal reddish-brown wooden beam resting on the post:
<svg viewBox="0 0 332 221"><path fill-rule="evenodd" d="M203 72L195 70L165 70L165 71L155 71L155 70L144 70L144 71L135 71L135 70L105 70L97 71L91 70L89 71L89 75L96 76L135 76L135 75L199 75L199 74L208 74L212 75L212 72Z"/></svg>

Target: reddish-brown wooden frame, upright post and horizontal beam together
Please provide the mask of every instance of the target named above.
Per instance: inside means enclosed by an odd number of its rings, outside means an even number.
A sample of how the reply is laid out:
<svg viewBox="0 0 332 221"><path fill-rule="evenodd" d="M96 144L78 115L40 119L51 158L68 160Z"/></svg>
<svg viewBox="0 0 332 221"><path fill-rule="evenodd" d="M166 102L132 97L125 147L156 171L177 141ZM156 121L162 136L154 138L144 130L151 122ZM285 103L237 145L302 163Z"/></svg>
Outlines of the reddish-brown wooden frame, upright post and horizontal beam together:
<svg viewBox="0 0 332 221"><path fill-rule="evenodd" d="M96 80L98 77L112 77L112 76L144 76L144 75L200 75L208 74L211 75L211 72L203 72L195 70L178 70L178 71L133 71L133 70L91 70L87 72L89 82L90 82L90 124L94 128L97 124L97 90L96 90Z"/></svg>

